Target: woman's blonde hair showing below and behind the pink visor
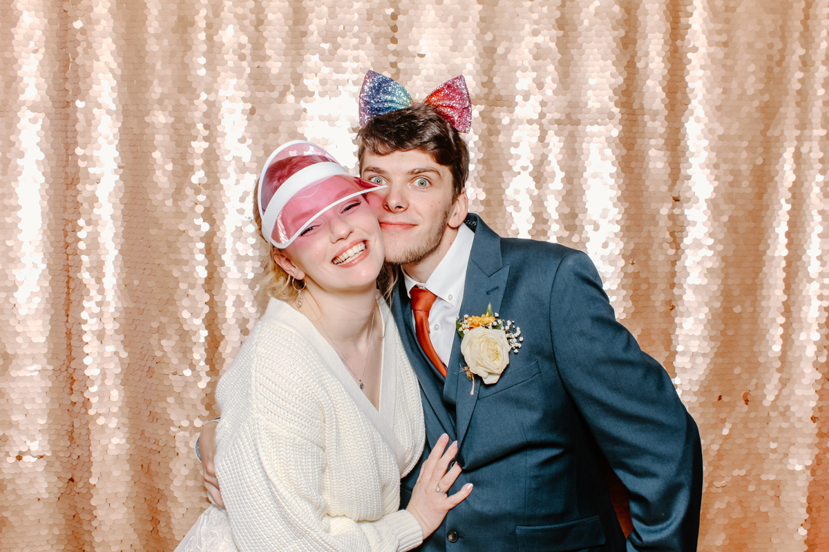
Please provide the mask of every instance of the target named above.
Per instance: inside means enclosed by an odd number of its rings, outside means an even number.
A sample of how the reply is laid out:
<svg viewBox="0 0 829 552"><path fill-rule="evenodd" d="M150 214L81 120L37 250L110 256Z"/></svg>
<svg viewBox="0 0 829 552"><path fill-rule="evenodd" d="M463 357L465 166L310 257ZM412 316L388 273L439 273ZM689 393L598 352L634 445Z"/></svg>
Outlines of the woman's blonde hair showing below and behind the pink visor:
<svg viewBox="0 0 829 552"><path fill-rule="evenodd" d="M265 175L267 180L267 174ZM254 187L254 222L256 223L256 231L259 233L259 238L262 238L268 244L268 257L264 259L263 268L264 273L259 280L259 285L256 286L256 303L259 305L259 310L264 312L265 307L271 297L285 301L286 303L293 303L297 300L298 290L305 287L305 281L294 280L288 272L284 271L282 266L279 266L274 261L274 245L264 236L262 232L262 215L259 214L259 180L256 181ZM388 262L383 263L380 274L377 275L377 289L381 291L383 298L391 305L391 294L395 290L397 283L397 265L392 265ZM294 284L293 282L297 282ZM296 286L296 287L294 287Z"/></svg>

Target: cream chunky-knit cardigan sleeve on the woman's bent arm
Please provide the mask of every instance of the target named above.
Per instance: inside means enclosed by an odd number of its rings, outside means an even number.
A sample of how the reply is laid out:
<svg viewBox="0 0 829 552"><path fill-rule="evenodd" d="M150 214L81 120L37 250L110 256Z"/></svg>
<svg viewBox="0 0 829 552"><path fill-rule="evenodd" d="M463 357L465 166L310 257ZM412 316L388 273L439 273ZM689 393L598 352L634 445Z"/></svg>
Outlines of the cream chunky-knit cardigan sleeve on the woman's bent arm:
<svg viewBox="0 0 829 552"><path fill-rule="evenodd" d="M226 434L216 456L238 550L403 552L418 546L422 533L408 511L376 521L327 515L322 496L325 420L313 382L293 379L304 372L284 371L279 382L273 374L268 383L255 379L262 391L256 393L255 406ZM371 454L367 445L366 454Z"/></svg>

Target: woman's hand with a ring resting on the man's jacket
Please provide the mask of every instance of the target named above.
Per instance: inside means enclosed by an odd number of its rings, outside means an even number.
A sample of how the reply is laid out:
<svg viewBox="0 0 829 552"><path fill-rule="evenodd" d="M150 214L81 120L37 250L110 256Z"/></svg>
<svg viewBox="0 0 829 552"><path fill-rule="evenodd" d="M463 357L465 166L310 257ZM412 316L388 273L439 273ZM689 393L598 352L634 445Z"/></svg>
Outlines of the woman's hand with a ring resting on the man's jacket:
<svg viewBox="0 0 829 552"><path fill-rule="evenodd" d="M457 463L448 472L446 471L449 462L458 452L457 441L450 444L448 449L446 448L448 440L448 435L443 434L438 442L434 444L434 449L429 453L429 458L426 458L420 467L420 473L417 482L414 484L409 506L406 506L406 510L420 524L424 539L434 533L434 530L440 526L441 522L444 521L444 517L446 517L446 512L458 506L472 492L472 483L467 483L451 497L446 494L449 487L452 487L455 479L461 473L461 467Z"/></svg>

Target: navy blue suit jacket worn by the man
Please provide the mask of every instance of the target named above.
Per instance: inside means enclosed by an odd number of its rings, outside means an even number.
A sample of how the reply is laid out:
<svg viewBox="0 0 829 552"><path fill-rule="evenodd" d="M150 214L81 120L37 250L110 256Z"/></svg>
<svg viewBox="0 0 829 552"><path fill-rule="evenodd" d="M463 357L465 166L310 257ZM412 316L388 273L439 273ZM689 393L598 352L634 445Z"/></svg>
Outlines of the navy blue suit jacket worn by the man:
<svg viewBox="0 0 829 552"><path fill-rule="evenodd" d="M501 379L472 383L455 338L445 382L414 336L400 281L393 313L414 371L426 450L457 439L450 492L472 494L419 550L696 550L702 489L699 432L664 368L615 319L589 257L568 247L475 230L461 315L487 304L521 328ZM602 455L630 492L625 540ZM417 479L402 482L402 506Z"/></svg>

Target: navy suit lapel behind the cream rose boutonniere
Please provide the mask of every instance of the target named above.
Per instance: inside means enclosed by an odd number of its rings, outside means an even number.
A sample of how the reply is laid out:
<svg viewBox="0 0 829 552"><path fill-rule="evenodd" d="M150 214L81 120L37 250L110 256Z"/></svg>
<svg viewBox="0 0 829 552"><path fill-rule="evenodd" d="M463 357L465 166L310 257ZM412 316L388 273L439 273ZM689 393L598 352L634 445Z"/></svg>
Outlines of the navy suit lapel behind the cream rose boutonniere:
<svg viewBox="0 0 829 552"><path fill-rule="evenodd" d="M463 285L463 302L460 316L464 314L478 316L492 304L492 310L499 312L501 301L507 286L509 265L502 265L501 238L487 227L476 215L469 215L477 219L475 241L469 255L466 281ZM463 444L463 437L472 419L473 410L478 402L480 387L483 385L480 377L475 377L475 392L472 391L472 382L467 379L463 368L466 362L461 354L461 339L454 340L452 355L447 367L447 394L453 393L456 401L456 420L458 430L458 446ZM451 381L449 381L451 378Z"/></svg>

